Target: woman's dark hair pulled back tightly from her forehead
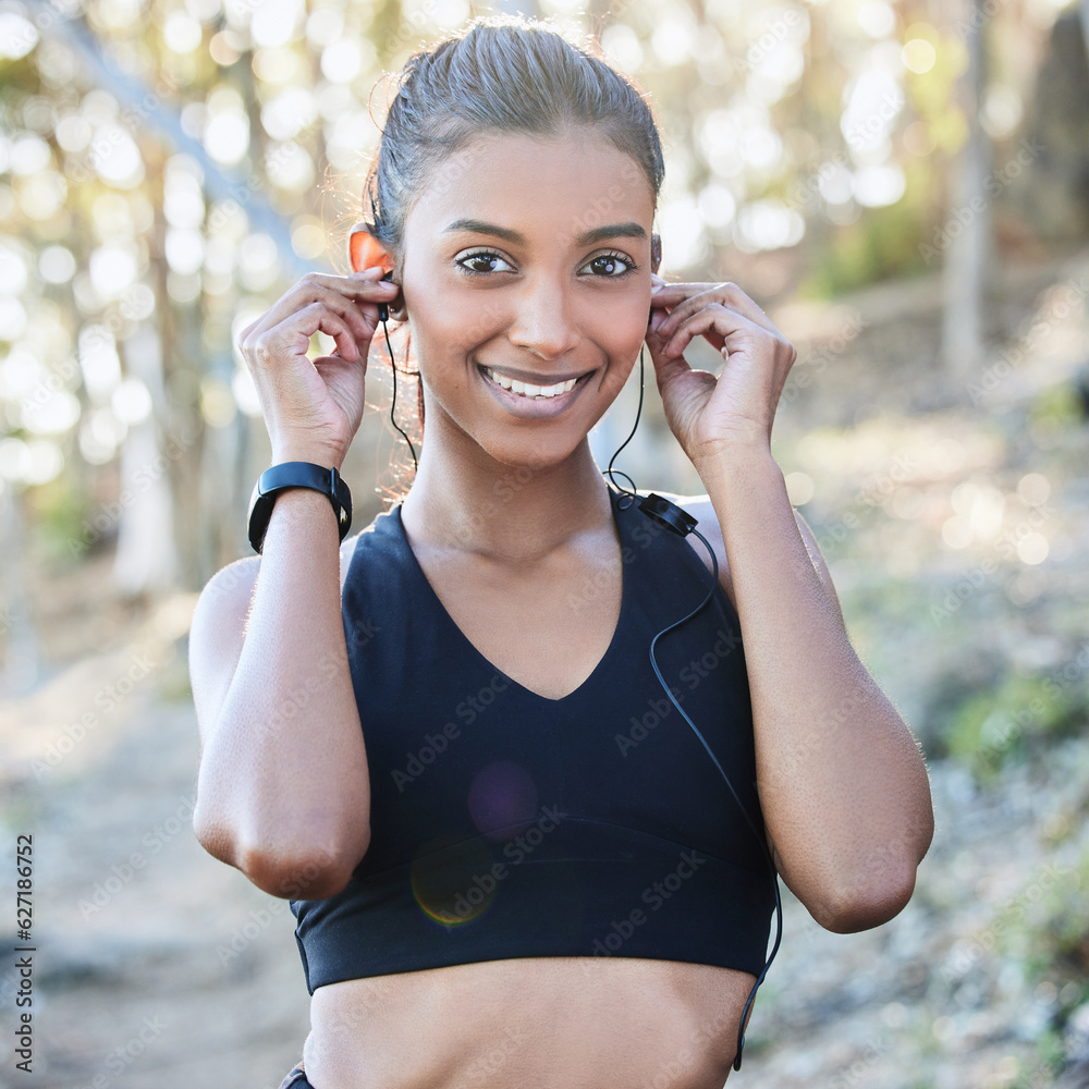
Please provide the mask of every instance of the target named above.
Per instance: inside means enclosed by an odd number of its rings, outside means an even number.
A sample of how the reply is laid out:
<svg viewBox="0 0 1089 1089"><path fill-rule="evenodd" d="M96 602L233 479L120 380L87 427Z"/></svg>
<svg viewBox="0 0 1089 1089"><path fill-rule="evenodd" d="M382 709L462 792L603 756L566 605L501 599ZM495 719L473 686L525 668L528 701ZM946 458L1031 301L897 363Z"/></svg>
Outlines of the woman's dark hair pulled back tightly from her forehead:
<svg viewBox="0 0 1089 1089"><path fill-rule="evenodd" d="M364 225L393 258L393 279L413 203L464 145L481 133L558 138L578 125L592 125L638 164L657 205L665 163L650 107L594 38L571 41L546 20L484 15L413 53L364 184ZM423 429L421 386L417 406Z"/></svg>

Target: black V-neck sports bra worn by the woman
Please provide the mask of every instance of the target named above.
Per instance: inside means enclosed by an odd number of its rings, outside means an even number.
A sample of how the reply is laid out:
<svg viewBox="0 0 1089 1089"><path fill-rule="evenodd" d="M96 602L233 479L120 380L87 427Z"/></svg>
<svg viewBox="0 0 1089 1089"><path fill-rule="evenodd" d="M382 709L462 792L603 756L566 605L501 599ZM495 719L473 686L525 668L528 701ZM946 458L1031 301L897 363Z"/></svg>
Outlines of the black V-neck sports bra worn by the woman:
<svg viewBox="0 0 1089 1089"><path fill-rule="evenodd" d="M522 687L462 634L408 546L400 504L360 534L343 615L371 840L342 892L291 902L311 994L506 957L763 968L766 856L648 656L711 576L687 541L609 492L620 621L561 699ZM741 626L721 587L656 657L762 834Z"/></svg>

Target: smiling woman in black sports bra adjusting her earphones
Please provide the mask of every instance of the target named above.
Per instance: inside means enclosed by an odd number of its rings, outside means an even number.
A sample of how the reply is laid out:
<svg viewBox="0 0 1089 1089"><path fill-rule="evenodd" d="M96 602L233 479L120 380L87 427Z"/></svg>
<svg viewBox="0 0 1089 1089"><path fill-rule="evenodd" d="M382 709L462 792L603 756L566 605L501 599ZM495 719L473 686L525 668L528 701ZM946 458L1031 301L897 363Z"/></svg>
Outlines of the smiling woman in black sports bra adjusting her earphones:
<svg viewBox="0 0 1089 1089"><path fill-rule="evenodd" d="M837 932L911 894L926 769L771 456L795 351L734 284L654 274L662 174L594 50L475 21L406 65L356 271L242 334L273 465L339 469L380 307L427 424L407 495L343 543L335 498L264 500L261 558L193 622L197 835L298 918L311 1031L284 1086L717 1089L772 860ZM644 341L713 559L589 451ZM659 682L651 637L705 592Z"/></svg>

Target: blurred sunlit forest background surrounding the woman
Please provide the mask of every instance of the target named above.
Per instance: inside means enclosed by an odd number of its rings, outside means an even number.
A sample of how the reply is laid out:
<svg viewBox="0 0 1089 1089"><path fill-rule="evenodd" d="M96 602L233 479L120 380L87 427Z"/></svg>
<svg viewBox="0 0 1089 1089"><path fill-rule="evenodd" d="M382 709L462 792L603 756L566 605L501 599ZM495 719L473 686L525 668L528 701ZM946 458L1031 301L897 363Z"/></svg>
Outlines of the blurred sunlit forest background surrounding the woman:
<svg viewBox="0 0 1089 1089"><path fill-rule="evenodd" d="M1089 1085L1089 2L1063 0L0 0L0 944L32 833L38 949L32 1075L0 959L0 1085L271 1089L301 1054L286 902L189 825L186 632L269 457L232 345L346 271L390 74L490 11L600 35L661 125L663 274L736 281L797 345L774 453L930 762L914 901L843 937L784 891L731 1084ZM407 480L374 352L359 527ZM701 490L652 381L621 464Z"/></svg>

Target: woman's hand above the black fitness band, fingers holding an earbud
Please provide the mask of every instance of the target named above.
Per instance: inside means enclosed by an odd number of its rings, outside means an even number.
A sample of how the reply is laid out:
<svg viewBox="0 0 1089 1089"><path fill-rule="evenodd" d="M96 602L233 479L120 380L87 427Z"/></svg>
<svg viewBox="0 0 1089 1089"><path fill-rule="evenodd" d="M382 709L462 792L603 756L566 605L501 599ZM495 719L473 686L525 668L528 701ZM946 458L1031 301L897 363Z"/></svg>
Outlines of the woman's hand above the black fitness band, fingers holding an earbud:
<svg viewBox="0 0 1089 1089"><path fill-rule="evenodd" d="M382 274L380 267L346 277L307 272L238 334L273 464L343 464L363 419L378 304L392 303L399 290ZM306 353L319 331L333 338L337 351L311 360Z"/></svg>

